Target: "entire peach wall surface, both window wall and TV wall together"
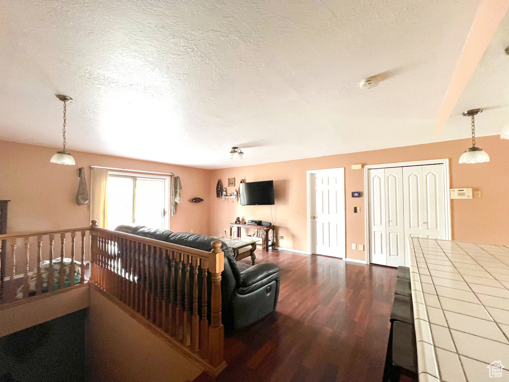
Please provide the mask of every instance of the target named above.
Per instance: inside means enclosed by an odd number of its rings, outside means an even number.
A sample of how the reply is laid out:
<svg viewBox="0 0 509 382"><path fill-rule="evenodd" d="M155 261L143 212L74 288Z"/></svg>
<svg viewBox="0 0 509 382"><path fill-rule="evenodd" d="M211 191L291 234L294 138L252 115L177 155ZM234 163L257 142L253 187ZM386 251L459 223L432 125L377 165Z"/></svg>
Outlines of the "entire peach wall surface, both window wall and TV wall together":
<svg viewBox="0 0 509 382"><path fill-rule="evenodd" d="M174 172L182 179L184 202L172 217L172 230L224 234L236 216L262 219L276 224L278 234L284 236L276 245L307 251L306 171L345 167L347 257L364 259L363 252L351 249L352 243L365 241L364 198L349 196L352 191L364 191L364 172L351 170L351 165L449 158L451 187L472 187L483 195L481 199L451 201L453 239L507 244L509 142L498 136L477 141L490 154L490 162L460 165L459 156L470 145L467 139L213 171L81 152L73 152L76 166L61 166L49 162L53 148L0 141L0 199L12 200L9 232L87 226L89 205L78 206L74 201L79 167L86 168L88 185L91 165ZM216 198L217 179L225 185L229 177L236 178L235 188L240 179L274 180L276 204L241 206L240 202ZM232 191L229 187L228 192ZM189 202L193 197L205 201ZM360 206L362 212L354 214L354 206Z"/></svg>

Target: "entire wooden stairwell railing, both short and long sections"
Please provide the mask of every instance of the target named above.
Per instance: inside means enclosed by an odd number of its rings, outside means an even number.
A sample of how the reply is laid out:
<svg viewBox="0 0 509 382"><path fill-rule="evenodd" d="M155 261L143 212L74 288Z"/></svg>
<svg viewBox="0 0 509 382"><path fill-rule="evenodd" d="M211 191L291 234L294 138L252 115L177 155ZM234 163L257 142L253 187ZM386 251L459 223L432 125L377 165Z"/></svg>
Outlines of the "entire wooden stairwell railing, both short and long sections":
<svg viewBox="0 0 509 382"><path fill-rule="evenodd" d="M99 228L97 221L84 228L0 235L0 240L7 260L0 264L6 270L0 303L90 282L208 373L218 375L226 366L220 241L212 243L212 251L200 251Z"/></svg>

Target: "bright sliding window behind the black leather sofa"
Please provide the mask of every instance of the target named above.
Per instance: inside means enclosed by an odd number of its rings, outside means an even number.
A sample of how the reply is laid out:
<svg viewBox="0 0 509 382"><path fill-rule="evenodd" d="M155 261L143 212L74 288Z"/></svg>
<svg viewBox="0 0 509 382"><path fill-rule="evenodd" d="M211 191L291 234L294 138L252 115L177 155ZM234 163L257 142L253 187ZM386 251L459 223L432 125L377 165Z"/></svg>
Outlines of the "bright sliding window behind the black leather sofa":
<svg viewBox="0 0 509 382"><path fill-rule="evenodd" d="M108 175L108 229L121 224L169 228L167 177Z"/></svg>

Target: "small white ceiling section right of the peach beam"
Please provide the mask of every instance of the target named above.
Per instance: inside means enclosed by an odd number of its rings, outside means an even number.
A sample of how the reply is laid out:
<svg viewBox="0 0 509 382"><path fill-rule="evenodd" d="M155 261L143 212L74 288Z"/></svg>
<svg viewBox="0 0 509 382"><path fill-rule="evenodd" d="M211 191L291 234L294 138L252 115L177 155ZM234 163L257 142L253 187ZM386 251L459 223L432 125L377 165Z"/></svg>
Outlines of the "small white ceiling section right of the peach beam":
<svg viewBox="0 0 509 382"><path fill-rule="evenodd" d="M453 115L445 125L444 137L455 137L465 132L469 134L470 119L461 114L479 107L485 111L475 117L476 135L500 134L503 125L509 121L509 56L504 51L507 46L509 13L500 22L493 40L470 77ZM482 140L477 142L477 146L483 147Z"/></svg>

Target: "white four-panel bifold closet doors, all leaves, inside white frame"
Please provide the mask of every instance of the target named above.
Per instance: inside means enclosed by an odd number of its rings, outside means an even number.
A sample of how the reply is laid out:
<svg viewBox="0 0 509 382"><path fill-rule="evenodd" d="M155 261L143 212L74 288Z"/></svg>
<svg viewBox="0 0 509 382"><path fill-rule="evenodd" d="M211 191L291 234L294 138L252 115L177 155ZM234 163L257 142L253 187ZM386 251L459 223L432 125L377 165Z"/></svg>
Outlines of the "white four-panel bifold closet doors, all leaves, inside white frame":
<svg viewBox="0 0 509 382"><path fill-rule="evenodd" d="M372 263L407 265L410 237L446 237L443 165L369 169Z"/></svg>

